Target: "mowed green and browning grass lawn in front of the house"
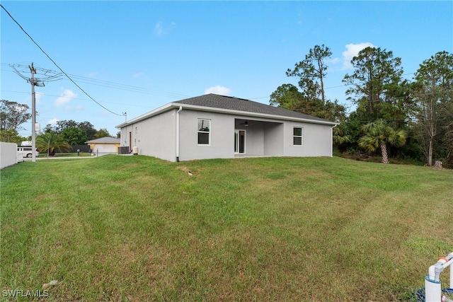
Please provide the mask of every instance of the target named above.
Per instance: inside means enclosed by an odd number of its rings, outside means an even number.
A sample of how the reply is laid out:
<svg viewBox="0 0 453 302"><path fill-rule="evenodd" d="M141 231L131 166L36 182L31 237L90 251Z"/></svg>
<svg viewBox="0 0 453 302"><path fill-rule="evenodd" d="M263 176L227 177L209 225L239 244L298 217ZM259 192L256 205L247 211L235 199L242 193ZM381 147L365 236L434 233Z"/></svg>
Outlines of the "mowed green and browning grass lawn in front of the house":
<svg viewBox="0 0 453 302"><path fill-rule="evenodd" d="M410 301L453 252L452 218L453 170L24 162L1 170L1 289L58 280L40 301Z"/></svg>

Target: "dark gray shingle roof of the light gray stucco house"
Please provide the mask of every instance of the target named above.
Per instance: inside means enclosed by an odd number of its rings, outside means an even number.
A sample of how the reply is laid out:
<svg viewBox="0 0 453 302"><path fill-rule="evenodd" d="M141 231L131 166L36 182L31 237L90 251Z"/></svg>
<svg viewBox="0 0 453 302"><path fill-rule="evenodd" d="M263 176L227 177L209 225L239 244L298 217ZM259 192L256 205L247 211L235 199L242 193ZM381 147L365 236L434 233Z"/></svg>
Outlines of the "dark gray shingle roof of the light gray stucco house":
<svg viewBox="0 0 453 302"><path fill-rule="evenodd" d="M176 104L196 105L210 108L220 108L226 110L238 110L244 112L260 113L265 115L280 115L283 117L295 117L305 120L316 120L323 122L332 122L321 119L320 117L314 117L311 115L305 115L304 113L295 112L271 105L265 105L262 103L253 102L253 100L246 100L243 98L234 98L231 96L217 95L217 94L206 94L196 96L195 98L186 98L185 100L178 100L173 102Z"/></svg>

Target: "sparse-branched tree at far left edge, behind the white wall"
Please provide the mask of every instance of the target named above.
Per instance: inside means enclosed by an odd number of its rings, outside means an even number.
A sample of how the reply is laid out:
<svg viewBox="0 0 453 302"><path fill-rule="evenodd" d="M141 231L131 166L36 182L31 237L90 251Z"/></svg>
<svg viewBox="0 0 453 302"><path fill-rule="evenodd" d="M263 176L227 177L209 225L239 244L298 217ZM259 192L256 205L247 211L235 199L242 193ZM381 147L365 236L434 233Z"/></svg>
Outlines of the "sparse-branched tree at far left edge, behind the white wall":
<svg viewBox="0 0 453 302"><path fill-rule="evenodd" d="M28 105L0 100L0 130L23 129L20 125L31 118L28 110Z"/></svg>

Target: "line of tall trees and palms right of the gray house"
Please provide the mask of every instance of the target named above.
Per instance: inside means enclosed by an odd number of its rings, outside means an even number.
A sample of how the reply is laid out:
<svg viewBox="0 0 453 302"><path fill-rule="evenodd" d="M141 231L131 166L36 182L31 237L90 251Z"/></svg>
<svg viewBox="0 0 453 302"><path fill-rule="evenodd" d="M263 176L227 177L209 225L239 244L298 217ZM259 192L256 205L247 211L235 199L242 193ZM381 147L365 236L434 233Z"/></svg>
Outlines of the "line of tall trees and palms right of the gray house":
<svg viewBox="0 0 453 302"><path fill-rule="evenodd" d="M298 86L285 83L270 95L270 105L338 122L333 144L341 153L379 153L411 158L432 165L443 161L453 168L453 54L442 51L425 59L413 79L403 79L401 58L380 47L366 47L351 60L345 74L347 100L355 110L346 113L338 100L326 98L325 45L316 45L305 59L287 69Z"/></svg>

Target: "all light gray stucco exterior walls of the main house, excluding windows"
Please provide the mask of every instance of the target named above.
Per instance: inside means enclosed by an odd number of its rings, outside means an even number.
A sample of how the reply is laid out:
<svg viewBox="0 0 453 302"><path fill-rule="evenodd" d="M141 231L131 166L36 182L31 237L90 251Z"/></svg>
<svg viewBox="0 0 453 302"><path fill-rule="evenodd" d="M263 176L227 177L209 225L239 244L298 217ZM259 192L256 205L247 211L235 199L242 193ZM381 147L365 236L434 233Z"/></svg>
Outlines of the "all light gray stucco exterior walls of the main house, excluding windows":
<svg viewBox="0 0 453 302"><path fill-rule="evenodd" d="M176 161L177 109L121 129L121 145L137 146L139 154ZM198 144L198 119L211 120L210 144ZM332 156L332 127L324 124L260 119L183 108L179 113L179 160L246 156ZM245 127L241 121L249 120ZM293 144L293 128L302 127L302 146ZM246 130L244 154L234 153L234 130ZM130 132L132 144L130 145Z"/></svg>

